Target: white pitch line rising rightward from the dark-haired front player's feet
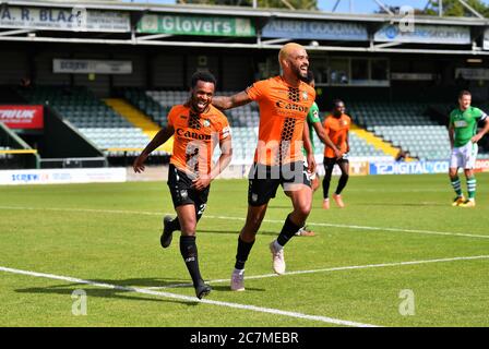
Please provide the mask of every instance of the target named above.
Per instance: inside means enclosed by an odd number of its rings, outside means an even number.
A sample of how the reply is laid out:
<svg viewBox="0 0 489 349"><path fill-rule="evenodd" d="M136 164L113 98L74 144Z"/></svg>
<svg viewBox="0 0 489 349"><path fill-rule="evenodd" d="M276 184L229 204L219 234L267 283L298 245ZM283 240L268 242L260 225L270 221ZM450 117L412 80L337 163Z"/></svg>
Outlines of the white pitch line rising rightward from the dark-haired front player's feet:
<svg viewBox="0 0 489 349"><path fill-rule="evenodd" d="M338 266L338 267L322 268L322 269L286 272L282 276L285 276L285 275L300 275L300 274L313 274L313 273L341 272L341 270L354 270L354 269L369 269L369 268L417 265L417 264L428 264L428 263L444 263L444 262L455 262L455 261L488 260L488 258L489 258L489 255L475 255L475 256L462 256L462 257L425 260L425 261L408 261L408 262L367 264L367 265L350 265L350 266ZM247 280L248 279L263 279L263 278L278 277L278 276L279 275L277 275L277 274L263 274L263 275L246 276L244 279L247 279ZM229 281L230 281L230 279L215 279L215 280L207 280L206 282L208 282L208 284L220 284L220 282L229 282ZM172 285L167 285L167 286L162 286L162 287L148 287L147 289L163 290L163 289L168 289L168 288L189 287L189 286L192 286L192 284L172 284Z"/></svg>

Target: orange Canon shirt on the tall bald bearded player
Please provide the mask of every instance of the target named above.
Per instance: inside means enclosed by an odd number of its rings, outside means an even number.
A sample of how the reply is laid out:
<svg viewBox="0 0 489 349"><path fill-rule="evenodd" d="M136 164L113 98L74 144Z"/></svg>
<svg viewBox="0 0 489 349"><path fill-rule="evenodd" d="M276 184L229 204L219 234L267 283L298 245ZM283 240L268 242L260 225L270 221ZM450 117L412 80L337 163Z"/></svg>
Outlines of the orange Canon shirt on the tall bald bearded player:
<svg viewBox="0 0 489 349"><path fill-rule="evenodd" d="M294 87L275 76L255 82L246 92L260 107L254 161L275 166L302 160L303 123L315 99L314 88L303 82Z"/></svg>

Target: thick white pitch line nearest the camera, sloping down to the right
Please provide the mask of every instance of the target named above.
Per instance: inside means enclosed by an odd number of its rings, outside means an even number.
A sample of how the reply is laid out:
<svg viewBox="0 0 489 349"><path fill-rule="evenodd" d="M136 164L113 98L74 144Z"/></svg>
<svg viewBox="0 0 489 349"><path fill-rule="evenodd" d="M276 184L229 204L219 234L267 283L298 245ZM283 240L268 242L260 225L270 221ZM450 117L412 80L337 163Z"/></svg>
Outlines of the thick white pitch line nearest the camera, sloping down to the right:
<svg viewBox="0 0 489 349"><path fill-rule="evenodd" d="M162 291L154 291L154 290L146 289L146 288L126 287L126 286L118 286L118 285L111 285L111 284L96 282L96 281L84 280L84 279L74 278L74 277L69 277L69 276L60 276L60 275L55 275L55 274L45 274L45 273L22 270L22 269L9 268L9 267L3 267L3 266L0 266L0 272L35 276L35 277L41 277L41 278L47 278L47 279L56 279L56 280L74 282L74 284L85 284L85 285L96 286L96 287L100 287L100 288L109 288L109 289L115 289L115 290L120 290L120 291L129 291L129 292L136 292L136 293L143 293L143 294L170 298L170 299L178 299L181 301L192 302L192 303L200 302L200 303L205 303L205 304L211 304L211 305L242 309L242 310L253 311L253 312L259 312L259 313L283 315L283 316L289 316L289 317L309 320L309 321L318 321L318 322L323 322L323 323L329 323L329 324L334 324L334 325L353 326L353 327L378 327L378 326L371 325L371 324L363 324L363 323L339 320L339 318L327 317L327 316L309 315L309 314L288 312L288 311L283 311L283 310L278 310L278 309L272 309L272 308L262 308L262 306L248 305L248 304L213 301L213 300L208 300L208 299L199 300L195 297L189 297L189 296L182 296L182 294L176 294L176 293L169 293L169 292L162 292Z"/></svg>

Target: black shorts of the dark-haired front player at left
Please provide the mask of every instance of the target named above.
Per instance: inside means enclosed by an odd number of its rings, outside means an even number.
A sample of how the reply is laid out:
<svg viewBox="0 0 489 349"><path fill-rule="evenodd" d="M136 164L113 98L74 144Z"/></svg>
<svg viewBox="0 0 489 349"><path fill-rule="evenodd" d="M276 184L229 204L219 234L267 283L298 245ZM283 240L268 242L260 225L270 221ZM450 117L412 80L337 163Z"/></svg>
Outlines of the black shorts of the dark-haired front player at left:
<svg viewBox="0 0 489 349"><path fill-rule="evenodd" d="M168 169L168 188L170 189L174 207L193 204L199 212L205 209L211 185L202 191L192 188L192 179L183 171L180 171L172 164ZM201 213L201 214L202 214Z"/></svg>

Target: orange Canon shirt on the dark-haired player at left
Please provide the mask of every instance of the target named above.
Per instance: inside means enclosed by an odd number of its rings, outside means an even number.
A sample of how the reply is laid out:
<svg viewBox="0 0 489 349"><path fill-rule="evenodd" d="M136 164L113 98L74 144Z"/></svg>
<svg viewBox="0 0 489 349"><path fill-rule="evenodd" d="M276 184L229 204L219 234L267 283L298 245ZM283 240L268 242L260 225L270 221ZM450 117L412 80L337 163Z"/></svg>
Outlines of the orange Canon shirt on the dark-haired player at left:
<svg viewBox="0 0 489 349"><path fill-rule="evenodd" d="M230 135L225 115L212 105L201 115L177 105L168 113L168 125L175 129L170 164L187 173L208 174L214 148Z"/></svg>

